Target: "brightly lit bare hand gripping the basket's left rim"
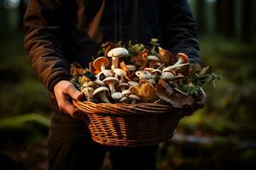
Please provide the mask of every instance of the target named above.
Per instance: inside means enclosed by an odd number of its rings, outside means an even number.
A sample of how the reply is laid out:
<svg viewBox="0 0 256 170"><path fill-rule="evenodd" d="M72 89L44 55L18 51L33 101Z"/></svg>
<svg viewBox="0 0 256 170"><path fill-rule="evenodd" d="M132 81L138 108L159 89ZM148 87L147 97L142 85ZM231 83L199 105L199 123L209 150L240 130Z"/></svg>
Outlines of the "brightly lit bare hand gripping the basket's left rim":
<svg viewBox="0 0 256 170"><path fill-rule="evenodd" d="M73 117L78 117L81 112L72 104L73 99L82 99L84 94L73 86L72 82L62 80L55 84L55 98L61 111Z"/></svg>

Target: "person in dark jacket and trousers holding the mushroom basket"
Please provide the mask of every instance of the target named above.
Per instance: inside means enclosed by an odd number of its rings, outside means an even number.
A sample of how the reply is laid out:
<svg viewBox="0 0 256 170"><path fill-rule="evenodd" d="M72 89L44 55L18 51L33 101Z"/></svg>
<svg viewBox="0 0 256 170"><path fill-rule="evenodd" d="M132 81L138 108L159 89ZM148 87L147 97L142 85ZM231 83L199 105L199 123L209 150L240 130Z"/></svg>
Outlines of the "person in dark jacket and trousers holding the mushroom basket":
<svg viewBox="0 0 256 170"><path fill-rule="evenodd" d="M100 169L106 150L113 169L155 169L157 146L108 148L95 144L72 99L83 94L69 82L73 62L87 66L102 42L142 42L200 62L195 20L186 0L32 0L24 18L28 59L54 94L49 169Z"/></svg>

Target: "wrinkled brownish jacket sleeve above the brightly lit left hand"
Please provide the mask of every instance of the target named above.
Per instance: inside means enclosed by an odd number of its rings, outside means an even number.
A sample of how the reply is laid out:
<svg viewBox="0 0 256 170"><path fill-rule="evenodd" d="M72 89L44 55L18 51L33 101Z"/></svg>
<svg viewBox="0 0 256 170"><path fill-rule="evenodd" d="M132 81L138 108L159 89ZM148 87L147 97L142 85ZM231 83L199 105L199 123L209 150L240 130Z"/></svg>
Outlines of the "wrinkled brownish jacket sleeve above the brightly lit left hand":
<svg viewBox="0 0 256 170"><path fill-rule="evenodd" d="M69 80L69 65L62 51L61 4L56 0L32 0L24 17L27 58L45 88Z"/></svg>

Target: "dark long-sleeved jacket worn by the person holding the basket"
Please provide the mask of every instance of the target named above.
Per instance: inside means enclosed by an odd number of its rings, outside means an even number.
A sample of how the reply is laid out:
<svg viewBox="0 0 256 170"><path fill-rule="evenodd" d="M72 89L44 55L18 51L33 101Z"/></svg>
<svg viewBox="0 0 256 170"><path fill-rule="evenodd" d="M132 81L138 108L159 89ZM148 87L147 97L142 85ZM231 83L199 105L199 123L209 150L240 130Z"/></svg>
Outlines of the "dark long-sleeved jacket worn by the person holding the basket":
<svg viewBox="0 0 256 170"><path fill-rule="evenodd" d="M102 42L148 43L200 62L195 20L186 0L32 0L24 18L25 47L44 86L69 79L69 65L87 66Z"/></svg>

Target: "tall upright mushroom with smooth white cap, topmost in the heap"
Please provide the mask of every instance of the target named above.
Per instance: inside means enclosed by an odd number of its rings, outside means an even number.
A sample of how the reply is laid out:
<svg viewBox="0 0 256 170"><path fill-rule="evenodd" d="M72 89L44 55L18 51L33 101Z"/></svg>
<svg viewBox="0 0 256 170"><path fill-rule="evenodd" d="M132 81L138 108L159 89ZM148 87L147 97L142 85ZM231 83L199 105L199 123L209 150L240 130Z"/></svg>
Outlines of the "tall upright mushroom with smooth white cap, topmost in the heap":
<svg viewBox="0 0 256 170"><path fill-rule="evenodd" d="M108 52L108 57L112 57L111 70L118 67L119 57L125 57L129 54L125 48L113 48Z"/></svg>

